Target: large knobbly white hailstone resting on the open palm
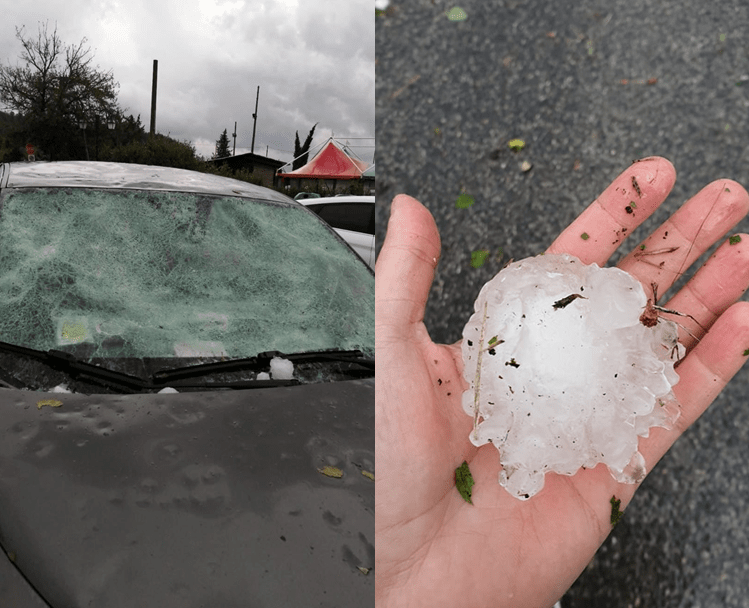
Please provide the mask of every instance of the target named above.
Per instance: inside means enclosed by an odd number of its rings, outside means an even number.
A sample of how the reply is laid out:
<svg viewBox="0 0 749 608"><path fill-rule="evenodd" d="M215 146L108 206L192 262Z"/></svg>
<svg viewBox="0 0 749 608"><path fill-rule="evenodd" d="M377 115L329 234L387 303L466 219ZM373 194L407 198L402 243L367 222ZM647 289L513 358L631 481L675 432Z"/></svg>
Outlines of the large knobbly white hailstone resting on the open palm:
<svg viewBox="0 0 749 608"><path fill-rule="evenodd" d="M463 330L463 408L473 444L499 450L510 494L599 462L620 482L644 478L638 437L678 418L683 354L676 324L642 324L647 304L628 273L570 255L515 262L484 285Z"/></svg>

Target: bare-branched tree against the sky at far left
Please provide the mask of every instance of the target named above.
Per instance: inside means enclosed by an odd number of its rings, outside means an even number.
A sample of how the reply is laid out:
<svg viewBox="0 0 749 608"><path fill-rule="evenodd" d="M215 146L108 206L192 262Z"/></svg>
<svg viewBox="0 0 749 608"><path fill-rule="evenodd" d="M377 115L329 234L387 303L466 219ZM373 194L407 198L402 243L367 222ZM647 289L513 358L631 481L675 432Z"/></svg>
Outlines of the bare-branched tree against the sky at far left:
<svg viewBox="0 0 749 608"><path fill-rule="evenodd" d="M47 24L39 24L36 39L23 28L16 28L16 38L23 47L21 64L0 66L0 101L24 117L30 136L50 154L66 155L78 125L121 116L119 85L111 71L94 66L85 38L64 45L57 26L50 34Z"/></svg>

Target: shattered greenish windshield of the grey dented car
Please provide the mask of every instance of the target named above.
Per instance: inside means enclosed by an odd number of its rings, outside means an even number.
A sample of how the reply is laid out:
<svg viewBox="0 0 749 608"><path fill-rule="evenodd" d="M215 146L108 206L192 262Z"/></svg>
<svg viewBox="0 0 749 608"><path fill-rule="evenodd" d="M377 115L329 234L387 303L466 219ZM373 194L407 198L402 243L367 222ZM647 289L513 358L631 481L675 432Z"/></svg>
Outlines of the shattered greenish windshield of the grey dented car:
<svg viewBox="0 0 749 608"><path fill-rule="evenodd" d="M110 357L374 352L374 279L302 207L175 192L0 196L0 340Z"/></svg>

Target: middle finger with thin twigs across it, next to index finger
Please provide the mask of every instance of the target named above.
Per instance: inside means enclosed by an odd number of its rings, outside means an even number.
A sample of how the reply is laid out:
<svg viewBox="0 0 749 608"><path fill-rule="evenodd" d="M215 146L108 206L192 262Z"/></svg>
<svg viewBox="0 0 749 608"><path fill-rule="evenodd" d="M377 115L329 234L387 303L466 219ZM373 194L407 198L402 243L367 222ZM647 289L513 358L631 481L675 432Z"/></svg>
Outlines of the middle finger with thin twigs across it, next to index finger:
<svg viewBox="0 0 749 608"><path fill-rule="evenodd" d="M618 264L650 292L665 293L694 261L749 211L749 194L732 180L705 186Z"/></svg>

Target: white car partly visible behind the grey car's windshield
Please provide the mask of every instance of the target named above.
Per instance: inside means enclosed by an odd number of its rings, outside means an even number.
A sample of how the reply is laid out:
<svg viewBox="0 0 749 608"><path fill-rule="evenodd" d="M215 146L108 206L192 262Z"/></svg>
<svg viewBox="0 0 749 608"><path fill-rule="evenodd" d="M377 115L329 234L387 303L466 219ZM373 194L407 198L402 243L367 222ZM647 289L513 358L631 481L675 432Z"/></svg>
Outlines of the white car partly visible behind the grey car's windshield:
<svg viewBox="0 0 749 608"><path fill-rule="evenodd" d="M370 268L375 264L374 202L374 196L352 195L301 201L346 239Z"/></svg>

